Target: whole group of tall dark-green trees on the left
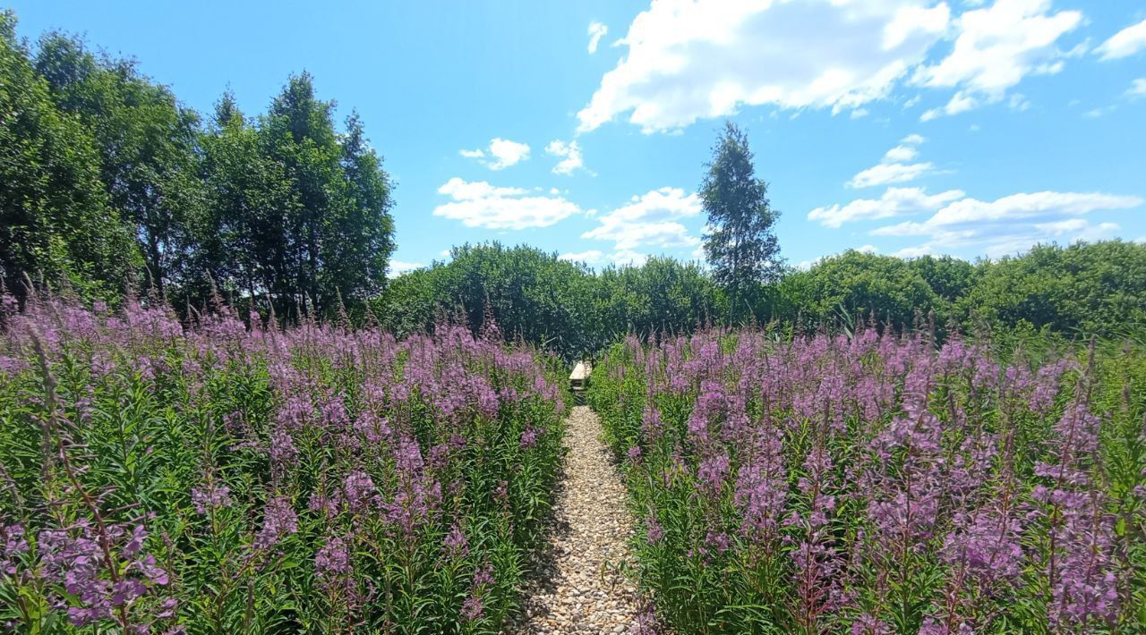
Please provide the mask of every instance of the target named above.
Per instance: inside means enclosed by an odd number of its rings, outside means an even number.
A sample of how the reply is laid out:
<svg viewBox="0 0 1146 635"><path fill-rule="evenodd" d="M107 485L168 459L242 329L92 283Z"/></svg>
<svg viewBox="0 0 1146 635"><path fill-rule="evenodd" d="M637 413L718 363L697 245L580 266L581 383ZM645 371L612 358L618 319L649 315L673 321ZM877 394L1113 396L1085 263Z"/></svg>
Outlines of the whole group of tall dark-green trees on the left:
<svg viewBox="0 0 1146 635"><path fill-rule="evenodd" d="M209 296L330 315L377 295L392 190L356 114L342 130L309 74L248 117L210 117L135 63L60 32L34 51L0 13L0 270L86 296Z"/></svg>

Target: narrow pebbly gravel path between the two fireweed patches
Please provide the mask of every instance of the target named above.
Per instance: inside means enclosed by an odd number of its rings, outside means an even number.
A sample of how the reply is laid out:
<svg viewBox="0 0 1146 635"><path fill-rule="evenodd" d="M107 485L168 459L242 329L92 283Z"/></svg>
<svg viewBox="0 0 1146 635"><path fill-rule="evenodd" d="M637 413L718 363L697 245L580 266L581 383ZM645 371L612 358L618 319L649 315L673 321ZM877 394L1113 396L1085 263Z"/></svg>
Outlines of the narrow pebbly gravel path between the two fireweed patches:
<svg viewBox="0 0 1146 635"><path fill-rule="evenodd" d="M620 572L633 526L625 485L601 440L597 415L576 406L567 424L555 531L524 590L524 624L508 633L625 633L636 617L635 589Z"/></svg>

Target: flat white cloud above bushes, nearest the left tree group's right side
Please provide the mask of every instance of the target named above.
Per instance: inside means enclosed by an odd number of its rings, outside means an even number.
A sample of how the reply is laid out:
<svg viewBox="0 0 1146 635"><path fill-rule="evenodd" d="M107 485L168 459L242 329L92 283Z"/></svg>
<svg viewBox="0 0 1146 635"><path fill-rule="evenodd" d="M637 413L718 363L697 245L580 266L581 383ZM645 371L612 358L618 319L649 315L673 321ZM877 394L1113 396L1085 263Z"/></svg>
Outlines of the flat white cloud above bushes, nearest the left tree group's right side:
<svg viewBox="0 0 1146 635"><path fill-rule="evenodd" d="M581 212L562 197L525 196L519 188L497 188L485 181L450 178L438 193L452 199L434 207L435 216L462 221L465 227L487 229L527 229L549 227Z"/></svg>

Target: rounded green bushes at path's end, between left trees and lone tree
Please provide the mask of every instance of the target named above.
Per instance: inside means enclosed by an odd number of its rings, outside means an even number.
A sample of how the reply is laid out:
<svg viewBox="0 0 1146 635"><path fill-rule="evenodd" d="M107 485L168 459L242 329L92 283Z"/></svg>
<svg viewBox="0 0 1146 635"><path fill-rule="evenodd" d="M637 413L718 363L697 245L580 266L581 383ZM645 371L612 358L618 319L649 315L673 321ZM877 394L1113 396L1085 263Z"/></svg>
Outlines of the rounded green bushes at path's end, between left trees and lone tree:
<svg viewBox="0 0 1146 635"><path fill-rule="evenodd" d="M532 247L463 245L448 263L394 279L372 303L395 333L490 319L510 339L565 358L592 355L629 332L685 333L716 320L723 296L696 264L653 257L642 267L594 275Z"/></svg>

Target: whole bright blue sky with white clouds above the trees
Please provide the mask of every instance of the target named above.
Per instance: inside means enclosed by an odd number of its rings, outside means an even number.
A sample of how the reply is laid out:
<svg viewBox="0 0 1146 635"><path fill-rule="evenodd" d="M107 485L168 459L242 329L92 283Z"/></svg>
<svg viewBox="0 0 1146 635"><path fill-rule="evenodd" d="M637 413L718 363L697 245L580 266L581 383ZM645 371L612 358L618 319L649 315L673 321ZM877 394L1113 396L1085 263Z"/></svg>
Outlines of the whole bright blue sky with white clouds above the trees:
<svg viewBox="0 0 1146 635"><path fill-rule="evenodd" d="M8 6L22 35L84 34L201 112L228 87L262 112L313 73L398 182L398 270L494 239L696 257L725 118L793 264L1146 240L1146 1Z"/></svg>

